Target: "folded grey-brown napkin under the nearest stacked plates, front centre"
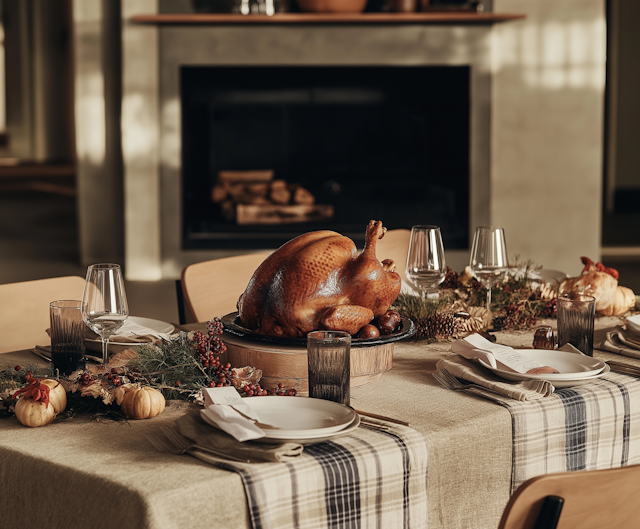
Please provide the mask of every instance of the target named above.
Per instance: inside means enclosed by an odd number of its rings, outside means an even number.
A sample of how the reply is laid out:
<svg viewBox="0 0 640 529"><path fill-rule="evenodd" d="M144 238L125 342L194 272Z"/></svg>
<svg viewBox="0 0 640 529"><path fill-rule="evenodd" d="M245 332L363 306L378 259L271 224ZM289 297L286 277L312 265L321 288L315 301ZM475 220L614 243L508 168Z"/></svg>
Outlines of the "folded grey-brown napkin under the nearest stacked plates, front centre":
<svg viewBox="0 0 640 529"><path fill-rule="evenodd" d="M175 422L176 430L193 443L204 448L234 458L246 459L251 463L291 461L302 454L303 447L299 443L271 444L259 441L241 443L229 434L216 430L202 420L199 412L183 415ZM208 463L219 463L219 459L204 451L194 450L192 455Z"/></svg>

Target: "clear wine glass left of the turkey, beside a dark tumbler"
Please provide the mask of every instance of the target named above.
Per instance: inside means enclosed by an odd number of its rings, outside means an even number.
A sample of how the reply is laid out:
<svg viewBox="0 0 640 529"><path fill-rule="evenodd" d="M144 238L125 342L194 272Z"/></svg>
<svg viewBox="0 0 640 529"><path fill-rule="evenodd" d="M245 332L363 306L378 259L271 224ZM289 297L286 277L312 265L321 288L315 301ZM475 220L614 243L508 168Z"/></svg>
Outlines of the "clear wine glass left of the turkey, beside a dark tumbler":
<svg viewBox="0 0 640 529"><path fill-rule="evenodd" d="M109 364L109 338L129 317L122 271L117 264L95 264L87 269L82 295L82 319L102 339L102 363Z"/></svg>

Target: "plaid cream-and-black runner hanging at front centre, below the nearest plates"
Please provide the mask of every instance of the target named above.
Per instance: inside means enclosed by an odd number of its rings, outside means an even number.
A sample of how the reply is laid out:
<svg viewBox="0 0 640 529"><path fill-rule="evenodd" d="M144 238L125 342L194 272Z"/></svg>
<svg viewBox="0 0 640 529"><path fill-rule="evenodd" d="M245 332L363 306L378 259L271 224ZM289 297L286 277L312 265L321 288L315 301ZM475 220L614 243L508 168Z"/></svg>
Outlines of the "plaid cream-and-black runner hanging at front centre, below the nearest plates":
<svg viewBox="0 0 640 529"><path fill-rule="evenodd" d="M240 474L253 529L427 527L427 445L412 428L365 425L294 462L217 466Z"/></svg>

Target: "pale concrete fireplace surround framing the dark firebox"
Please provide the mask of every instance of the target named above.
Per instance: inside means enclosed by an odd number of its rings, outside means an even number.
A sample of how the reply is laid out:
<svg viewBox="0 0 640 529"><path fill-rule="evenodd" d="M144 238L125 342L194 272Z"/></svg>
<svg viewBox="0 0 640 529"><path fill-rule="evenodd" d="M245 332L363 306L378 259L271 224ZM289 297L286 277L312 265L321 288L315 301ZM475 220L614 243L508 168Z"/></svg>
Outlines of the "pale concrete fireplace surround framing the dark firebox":
<svg viewBox="0 0 640 529"><path fill-rule="evenodd" d="M496 13L468 14L468 21L450 14L438 20L444 15L436 13L326 21L291 14L237 23L209 15L205 23L204 15L161 15L157 0L123 2L127 277L175 278L191 263L238 253L181 248L183 65L469 66L471 233L476 225L502 225L511 257L577 272L580 255L600 253L604 6L605 0L494 0ZM82 84L88 78L77 72L77 88L94 86ZM95 120L87 116L84 128L77 121L79 137L83 131L94 133ZM84 167L96 171L93 160L79 156L80 180ZM91 199L100 200L95 190ZM90 205L83 209L91 213ZM99 239L102 228L83 239ZM468 252L447 252L453 268L467 259Z"/></svg>

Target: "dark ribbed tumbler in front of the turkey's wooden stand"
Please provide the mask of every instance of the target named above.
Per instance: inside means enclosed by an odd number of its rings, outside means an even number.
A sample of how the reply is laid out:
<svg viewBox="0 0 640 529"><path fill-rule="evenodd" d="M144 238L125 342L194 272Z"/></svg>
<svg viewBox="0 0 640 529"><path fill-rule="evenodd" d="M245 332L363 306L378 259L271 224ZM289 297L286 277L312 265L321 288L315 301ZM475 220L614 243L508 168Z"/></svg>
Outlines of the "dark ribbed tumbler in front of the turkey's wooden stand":
<svg viewBox="0 0 640 529"><path fill-rule="evenodd" d="M351 335L344 331L307 334L309 396L349 406Z"/></svg>

